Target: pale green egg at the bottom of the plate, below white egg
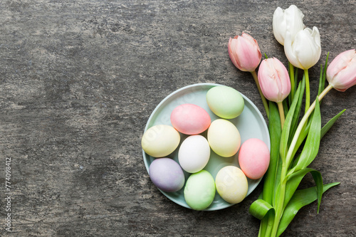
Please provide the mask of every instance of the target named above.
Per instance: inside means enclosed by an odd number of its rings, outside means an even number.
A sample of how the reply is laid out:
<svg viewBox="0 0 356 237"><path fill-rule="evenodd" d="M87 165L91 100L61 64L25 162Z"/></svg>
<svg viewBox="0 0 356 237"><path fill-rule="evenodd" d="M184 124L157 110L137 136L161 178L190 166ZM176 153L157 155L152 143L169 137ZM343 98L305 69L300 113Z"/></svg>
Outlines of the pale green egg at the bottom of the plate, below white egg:
<svg viewBox="0 0 356 237"><path fill-rule="evenodd" d="M184 199L192 209L201 211L210 206L215 196L215 181L209 172L191 174L184 187Z"/></svg>

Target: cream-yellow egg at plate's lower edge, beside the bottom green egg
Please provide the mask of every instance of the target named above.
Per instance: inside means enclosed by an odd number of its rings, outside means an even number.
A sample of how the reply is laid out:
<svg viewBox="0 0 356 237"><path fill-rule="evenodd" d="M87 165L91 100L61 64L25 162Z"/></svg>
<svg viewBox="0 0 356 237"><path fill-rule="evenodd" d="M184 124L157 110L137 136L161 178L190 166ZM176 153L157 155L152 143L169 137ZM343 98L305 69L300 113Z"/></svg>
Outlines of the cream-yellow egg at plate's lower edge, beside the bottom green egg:
<svg viewBox="0 0 356 237"><path fill-rule="evenodd" d="M238 204L247 195L248 181L238 167L227 166L220 169L216 174L215 184L221 198L231 204Z"/></svg>

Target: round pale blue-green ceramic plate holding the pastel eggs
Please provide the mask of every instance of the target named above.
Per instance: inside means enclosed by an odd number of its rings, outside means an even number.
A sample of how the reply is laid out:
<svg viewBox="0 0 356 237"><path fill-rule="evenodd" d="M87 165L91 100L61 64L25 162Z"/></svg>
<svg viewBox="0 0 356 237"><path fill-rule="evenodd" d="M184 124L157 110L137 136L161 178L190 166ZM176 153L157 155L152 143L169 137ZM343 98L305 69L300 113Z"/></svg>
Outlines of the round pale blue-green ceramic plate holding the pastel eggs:
<svg viewBox="0 0 356 237"><path fill-rule="evenodd" d="M209 109L208 104L206 103L206 93L210 88L213 88L214 86L218 86L219 84L213 84L213 83L201 83L201 84L194 84L194 85L189 85L187 87L181 88L179 90L174 91L174 93L168 95L164 100L162 100L159 105L155 108L155 110L152 112L150 118L147 121L146 127L145 127L145 132L147 129L154 125L171 125L170 122L170 115L172 110L174 110L175 107L178 105L190 103L194 105L199 105L200 107L204 108L206 110L210 117L211 117L211 122L214 120L218 119L219 117L214 115L213 112ZM263 142L265 142L268 146L268 149L271 149L271 144L270 144L270 138L268 134L268 127L266 125L265 120L263 119L263 116L261 115L261 112L258 110L256 105L253 105L253 102L246 98L245 95L241 93L242 97L244 98L245 101L245 107L244 111L239 115L239 117L236 117L231 121L236 125L237 129L240 132L241 135L241 144L245 142L247 139L250 138L258 138L261 139ZM206 137L206 132L203 132L201 135ZM181 143L182 141L187 137L187 135L182 135L181 134ZM180 144L179 144L180 146ZM172 154L168 155L167 157L174 159L176 162L178 162L178 149L177 148ZM151 157L150 155L146 154L145 151L143 151L143 160L145 162L145 166L147 169L147 172L149 170L150 164L153 162L155 158ZM239 154L239 152L238 152ZM216 174L219 172L219 170L222 167L225 167L227 165L234 165L236 167L239 167L239 161L238 161L238 154L236 154L234 157L219 157L216 153L214 153L211 150L211 156L209 159L208 164L206 164L206 167L204 169L214 177L216 177ZM179 162L178 162L179 163ZM187 181L189 177L189 173L184 172L185 175L185 180ZM262 178L261 178L262 179ZM256 189L256 186L259 184L261 179L253 180L253 179L247 179L248 180L248 194L251 194L251 192ZM167 196L168 199L174 201L175 203L187 207L190 209L190 207L187 205L186 201L184 200L184 187L183 189L176 191L176 192L164 192L160 190L162 194ZM224 201L224 199L221 199L221 196L216 191L216 195L214 198L213 203L206 209L206 211L214 211L214 210L219 210L219 209L224 209L226 207L232 206L234 204L229 204L228 202Z"/></svg>

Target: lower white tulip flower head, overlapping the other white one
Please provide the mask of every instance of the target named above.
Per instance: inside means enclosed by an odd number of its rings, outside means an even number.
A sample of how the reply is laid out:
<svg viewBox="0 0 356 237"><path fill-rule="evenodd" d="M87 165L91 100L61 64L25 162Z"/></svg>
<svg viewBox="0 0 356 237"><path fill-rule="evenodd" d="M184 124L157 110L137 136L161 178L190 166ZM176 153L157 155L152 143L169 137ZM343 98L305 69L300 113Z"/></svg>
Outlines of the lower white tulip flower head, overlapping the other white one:
<svg viewBox="0 0 356 237"><path fill-rule="evenodd" d="M292 41L290 31L286 32L284 52L292 65L303 70L309 69L318 63L321 54L320 33L318 28L305 28L299 31Z"/></svg>

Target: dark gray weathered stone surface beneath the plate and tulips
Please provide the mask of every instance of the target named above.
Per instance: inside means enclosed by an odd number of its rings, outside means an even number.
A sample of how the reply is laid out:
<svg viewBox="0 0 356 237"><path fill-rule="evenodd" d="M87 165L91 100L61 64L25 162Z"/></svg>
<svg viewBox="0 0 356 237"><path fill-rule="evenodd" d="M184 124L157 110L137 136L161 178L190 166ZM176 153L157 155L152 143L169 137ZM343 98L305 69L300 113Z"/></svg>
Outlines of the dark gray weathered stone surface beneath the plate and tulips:
<svg viewBox="0 0 356 237"><path fill-rule="evenodd" d="M355 48L355 0L0 1L0 236L257 236L248 208L261 185L227 209L186 209L152 184L140 142L159 102L194 83L229 85L263 112L227 43L244 31L287 65L272 16L291 4L320 30L322 54L309 70L315 98L327 53ZM355 236L355 101L356 87L323 100L322 125L346 111L310 167L341 184L323 195L319 214L315 202L301 209L283 236Z"/></svg>

